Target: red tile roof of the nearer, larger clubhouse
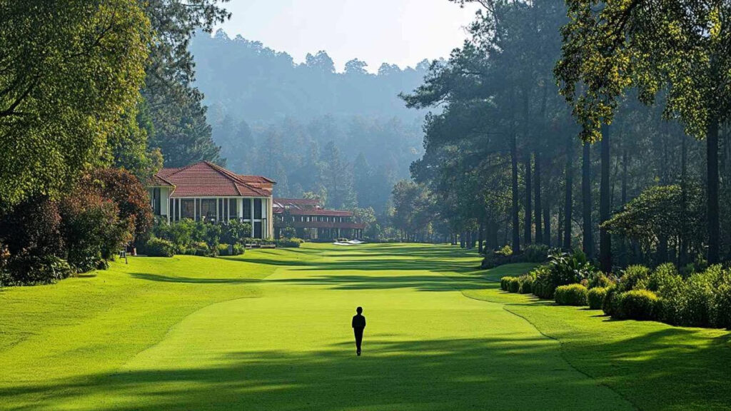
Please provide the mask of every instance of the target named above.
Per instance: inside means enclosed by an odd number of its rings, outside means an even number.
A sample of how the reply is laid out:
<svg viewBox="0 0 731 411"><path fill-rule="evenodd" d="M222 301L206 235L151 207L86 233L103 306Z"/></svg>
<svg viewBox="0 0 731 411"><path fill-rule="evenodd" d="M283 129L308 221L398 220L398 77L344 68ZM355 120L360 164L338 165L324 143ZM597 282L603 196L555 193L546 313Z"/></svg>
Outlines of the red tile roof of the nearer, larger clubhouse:
<svg viewBox="0 0 731 411"><path fill-rule="evenodd" d="M251 180L270 181L260 176ZM246 182L238 174L211 162L197 162L188 167L163 168L156 178L167 181L175 189L170 197L269 197L271 190Z"/></svg>

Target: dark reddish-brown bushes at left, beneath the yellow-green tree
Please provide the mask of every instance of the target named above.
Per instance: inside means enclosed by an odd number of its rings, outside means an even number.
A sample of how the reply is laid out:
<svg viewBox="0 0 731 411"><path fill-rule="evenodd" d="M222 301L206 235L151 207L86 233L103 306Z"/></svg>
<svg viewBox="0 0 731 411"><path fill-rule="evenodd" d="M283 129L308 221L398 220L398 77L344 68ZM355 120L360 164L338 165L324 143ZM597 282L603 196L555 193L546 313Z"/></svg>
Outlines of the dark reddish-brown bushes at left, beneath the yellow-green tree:
<svg viewBox="0 0 731 411"><path fill-rule="evenodd" d="M131 173L93 170L58 200L31 197L0 215L0 285L48 284L107 267L152 222Z"/></svg>

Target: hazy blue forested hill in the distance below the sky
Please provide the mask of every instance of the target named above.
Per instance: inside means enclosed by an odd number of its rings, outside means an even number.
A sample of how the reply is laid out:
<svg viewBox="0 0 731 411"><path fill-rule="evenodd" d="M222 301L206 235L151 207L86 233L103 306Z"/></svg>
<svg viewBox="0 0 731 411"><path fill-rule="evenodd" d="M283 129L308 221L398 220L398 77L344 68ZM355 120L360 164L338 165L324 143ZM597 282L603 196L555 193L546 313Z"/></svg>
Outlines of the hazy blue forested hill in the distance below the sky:
<svg viewBox="0 0 731 411"><path fill-rule="evenodd" d="M315 192L327 206L380 212L423 152L425 112L407 110L398 94L423 82L428 61L372 74L354 59L336 72L325 51L297 64L223 31L197 34L190 50L221 157L276 179L276 195Z"/></svg>

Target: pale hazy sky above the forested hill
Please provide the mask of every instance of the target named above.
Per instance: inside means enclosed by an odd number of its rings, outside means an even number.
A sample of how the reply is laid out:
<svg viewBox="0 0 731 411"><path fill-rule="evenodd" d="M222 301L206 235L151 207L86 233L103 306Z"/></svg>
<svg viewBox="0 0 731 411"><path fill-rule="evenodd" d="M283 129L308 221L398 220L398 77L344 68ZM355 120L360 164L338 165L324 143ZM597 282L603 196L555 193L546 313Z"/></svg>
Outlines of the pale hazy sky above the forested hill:
<svg viewBox="0 0 731 411"><path fill-rule="evenodd" d="M476 6L447 0L231 0L233 13L221 25L297 62L326 50L338 71L358 58L375 72L387 62L404 68L449 56L466 38Z"/></svg>

